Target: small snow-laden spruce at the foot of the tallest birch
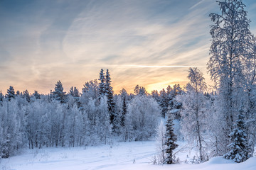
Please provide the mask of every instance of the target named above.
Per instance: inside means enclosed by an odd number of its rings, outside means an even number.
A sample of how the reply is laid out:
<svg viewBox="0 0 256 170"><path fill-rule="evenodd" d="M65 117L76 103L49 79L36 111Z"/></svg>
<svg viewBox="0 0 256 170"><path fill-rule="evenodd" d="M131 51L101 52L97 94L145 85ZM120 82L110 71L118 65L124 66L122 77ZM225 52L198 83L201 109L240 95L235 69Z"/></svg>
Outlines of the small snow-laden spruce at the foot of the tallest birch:
<svg viewBox="0 0 256 170"><path fill-rule="evenodd" d="M232 159L235 162L245 162L249 158L249 148L247 144L247 134L245 133L244 109L241 108L238 118L235 121L235 128L230 133L231 143L228 145L229 152L224 155L226 159Z"/></svg>

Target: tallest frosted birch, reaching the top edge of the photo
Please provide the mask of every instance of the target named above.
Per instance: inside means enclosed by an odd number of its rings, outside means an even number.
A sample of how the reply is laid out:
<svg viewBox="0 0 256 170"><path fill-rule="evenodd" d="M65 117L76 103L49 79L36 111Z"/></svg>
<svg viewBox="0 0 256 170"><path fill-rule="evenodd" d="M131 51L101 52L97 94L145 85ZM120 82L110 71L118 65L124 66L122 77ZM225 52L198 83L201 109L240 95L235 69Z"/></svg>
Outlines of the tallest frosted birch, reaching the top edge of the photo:
<svg viewBox="0 0 256 170"><path fill-rule="evenodd" d="M225 115L225 146L230 139L228 134L233 130L235 114L237 114L244 76L243 58L247 56L247 47L252 38L245 4L242 0L218 1L220 14L210 13L213 26L210 26L212 44L208 71L215 82L220 100L220 114ZM228 148L225 148L227 150Z"/></svg>

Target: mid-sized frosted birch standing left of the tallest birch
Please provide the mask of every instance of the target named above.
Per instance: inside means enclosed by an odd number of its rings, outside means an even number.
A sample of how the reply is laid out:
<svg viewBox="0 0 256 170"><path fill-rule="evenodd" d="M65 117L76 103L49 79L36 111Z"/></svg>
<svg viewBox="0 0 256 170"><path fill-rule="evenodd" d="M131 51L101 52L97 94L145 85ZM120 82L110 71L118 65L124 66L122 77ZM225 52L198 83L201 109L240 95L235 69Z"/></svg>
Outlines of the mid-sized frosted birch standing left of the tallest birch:
<svg viewBox="0 0 256 170"><path fill-rule="evenodd" d="M198 143L200 160L206 158L203 155L203 132L207 130L206 114L208 102L203 92L206 90L206 82L203 73L197 68L188 70L189 84L186 86L186 94L177 96L177 100L182 103L182 129L188 140Z"/></svg>

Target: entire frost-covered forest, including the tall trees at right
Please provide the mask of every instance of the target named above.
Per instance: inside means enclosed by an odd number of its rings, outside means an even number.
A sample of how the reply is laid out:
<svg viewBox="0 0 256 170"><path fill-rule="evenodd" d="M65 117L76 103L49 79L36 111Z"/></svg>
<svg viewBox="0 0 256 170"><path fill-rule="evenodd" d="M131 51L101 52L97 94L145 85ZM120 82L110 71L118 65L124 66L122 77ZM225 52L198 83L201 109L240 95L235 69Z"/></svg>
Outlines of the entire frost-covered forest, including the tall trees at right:
<svg viewBox="0 0 256 170"><path fill-rule="evenodd" d="M176 163L177 140L196 148L198 162L218 156L245 162L253 157L256 38L242 1L218 5L220 13L210 13L206 66L214 86L206 84L197 67L188 69L186 86L161 91L147 92L137 85L134 93L114 93L109 69L99 70L99 77L85 82L81 91L75 86L64 91L61 81L49 94L10 86L0 93L1 159L23 148L98 146L155 137L160 146L157 164Z"/></svg>

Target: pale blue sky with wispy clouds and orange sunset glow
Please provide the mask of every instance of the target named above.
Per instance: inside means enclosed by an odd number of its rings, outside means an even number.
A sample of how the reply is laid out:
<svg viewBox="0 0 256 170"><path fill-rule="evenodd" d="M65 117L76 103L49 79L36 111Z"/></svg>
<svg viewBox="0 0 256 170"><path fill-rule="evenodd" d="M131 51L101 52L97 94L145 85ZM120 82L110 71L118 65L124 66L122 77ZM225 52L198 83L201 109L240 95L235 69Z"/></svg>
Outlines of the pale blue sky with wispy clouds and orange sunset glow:
<svg viewBox="0 0 256 170"><path fill-rule="evenodd" d="M244 0L256 34L256 1ZM0 90L65 91L109 69L114 93L207 74L214 0L0 0Z"/></svg>

